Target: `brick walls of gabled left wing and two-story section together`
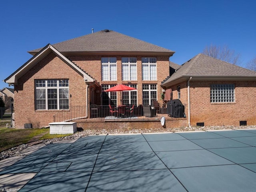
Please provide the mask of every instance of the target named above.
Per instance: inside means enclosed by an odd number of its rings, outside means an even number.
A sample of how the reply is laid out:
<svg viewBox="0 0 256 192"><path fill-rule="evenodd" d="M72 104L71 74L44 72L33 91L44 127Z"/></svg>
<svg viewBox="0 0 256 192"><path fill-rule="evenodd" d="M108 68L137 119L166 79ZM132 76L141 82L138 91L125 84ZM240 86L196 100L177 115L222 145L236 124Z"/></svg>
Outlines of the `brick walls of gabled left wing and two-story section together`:
<svg viewBox="0 0 256 192"><path fill-rule="evenodd" d="M77 66L82 68L87 74L96 79L100 84L127 84L122 81L122 56L117 57L117 81L101 80L101 57L102 56L67 56ZM106 57L106 56L104 56ZM112 57L112 56L108 56ZM162 93L161 82L169 76L169 57L156 56L157 58L157 79L156 81L142 81L142 63L141 58L144 56L124 56L137 58L137 75L138 80L132 83L138 85L138 104L142 104L142 84L158 84L158 101ZM154 56L150 56L154 57ZM26 74L18 79L18 85L14 90L15 105L15 127L24 128L24 124L31 123L33 128L48 126L53 122L54 114L60 110L35 110L35 80L38 79L69 79L69 94L71 106L86 106L86 83L82 76L75 70L64 63L54 53L48 54L40 62L35 64ZM99 93L95 95L96 104L101 104L101 88L96 88ZM88 89L90 91L90 88ZM119 96L119 95L118 95ZM89 98L90 99L90 98ZM120 98L118 98L119 100ZM90 100L89 100L90 101Z"/></svg>

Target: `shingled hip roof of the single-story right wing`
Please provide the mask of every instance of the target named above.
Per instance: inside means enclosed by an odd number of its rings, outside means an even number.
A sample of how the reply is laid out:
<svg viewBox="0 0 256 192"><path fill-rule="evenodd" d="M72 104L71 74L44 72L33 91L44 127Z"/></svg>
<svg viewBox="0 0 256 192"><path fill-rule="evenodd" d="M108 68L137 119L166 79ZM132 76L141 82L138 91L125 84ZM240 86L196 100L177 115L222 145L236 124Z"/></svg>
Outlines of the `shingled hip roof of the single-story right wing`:
<svg viewBox="0 0 256 192"><path fill-rule="evenodd" d="M224 62L222 60L198 54L188 60L162 86L170 86L184 80L256 80L256 72Z"/></svg>

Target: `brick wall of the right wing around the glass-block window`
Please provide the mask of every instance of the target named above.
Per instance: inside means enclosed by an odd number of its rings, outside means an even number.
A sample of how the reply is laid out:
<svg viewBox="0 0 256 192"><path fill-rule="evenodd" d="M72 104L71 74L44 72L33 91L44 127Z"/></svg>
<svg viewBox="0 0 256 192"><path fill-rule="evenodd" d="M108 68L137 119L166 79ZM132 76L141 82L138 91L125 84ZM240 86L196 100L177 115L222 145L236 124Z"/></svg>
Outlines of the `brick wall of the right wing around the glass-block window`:
<svg viewBox="0 0 256 192"><path fill-rule="evenodd" d="M211 103L211 84L234 84L235 102ZM187 104L186 114L188 114L187 82L171 87L173 99L177 99L177 86L180 86L180 100ZM247 125L255 125L255 94L255 81L190 81L190 123L192 126L196 126L198 122L204 122L205 126L239 126L240 121L247 121Z"/></svg>

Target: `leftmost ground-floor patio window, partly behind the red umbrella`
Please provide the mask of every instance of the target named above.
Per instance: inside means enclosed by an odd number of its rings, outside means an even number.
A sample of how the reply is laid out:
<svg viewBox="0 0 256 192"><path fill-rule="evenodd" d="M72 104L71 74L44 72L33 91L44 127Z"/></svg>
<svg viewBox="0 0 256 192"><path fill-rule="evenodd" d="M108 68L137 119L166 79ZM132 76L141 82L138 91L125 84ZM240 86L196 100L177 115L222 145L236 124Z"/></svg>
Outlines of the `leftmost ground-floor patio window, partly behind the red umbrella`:
<svg viewBox="0 0 256 192"><path fill-rule="evenodd" d="M117 104L116 91L105 92L105 90L112 88L114 86L116 86L116 85L115 84L102 85L102 105L116 106L116 104Z"/></svg>

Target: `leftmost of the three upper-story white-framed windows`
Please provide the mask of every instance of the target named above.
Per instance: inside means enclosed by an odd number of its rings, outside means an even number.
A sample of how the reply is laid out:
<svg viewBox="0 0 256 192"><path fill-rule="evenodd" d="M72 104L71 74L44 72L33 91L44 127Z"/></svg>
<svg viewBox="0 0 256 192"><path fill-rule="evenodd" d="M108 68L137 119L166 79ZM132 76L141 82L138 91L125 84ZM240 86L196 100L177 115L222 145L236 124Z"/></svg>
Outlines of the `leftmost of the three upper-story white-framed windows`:
<svg viewBox="0 0 256 192"><path fill-rule="evenodd" d="M101 78L102 81L116 81L116 57L101 58Z"/></svg>

